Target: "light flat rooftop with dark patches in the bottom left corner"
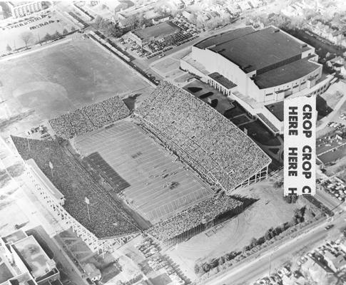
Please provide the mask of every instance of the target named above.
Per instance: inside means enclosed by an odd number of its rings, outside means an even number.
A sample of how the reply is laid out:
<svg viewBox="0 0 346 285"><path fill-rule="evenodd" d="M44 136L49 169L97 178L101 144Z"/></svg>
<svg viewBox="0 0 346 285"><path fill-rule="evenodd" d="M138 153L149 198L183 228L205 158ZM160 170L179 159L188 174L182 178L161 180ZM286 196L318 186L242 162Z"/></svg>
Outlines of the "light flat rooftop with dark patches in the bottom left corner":
<svg viewBox="0 0 346 285"><path fill-rule="evenodd" d="M21 257L26 266L29 266L29 271L34 278L44 276L51 271L48 265L51 259L41 248L34 236L29 236L16 242L14 249L16 249L19 257Z"/></svg>

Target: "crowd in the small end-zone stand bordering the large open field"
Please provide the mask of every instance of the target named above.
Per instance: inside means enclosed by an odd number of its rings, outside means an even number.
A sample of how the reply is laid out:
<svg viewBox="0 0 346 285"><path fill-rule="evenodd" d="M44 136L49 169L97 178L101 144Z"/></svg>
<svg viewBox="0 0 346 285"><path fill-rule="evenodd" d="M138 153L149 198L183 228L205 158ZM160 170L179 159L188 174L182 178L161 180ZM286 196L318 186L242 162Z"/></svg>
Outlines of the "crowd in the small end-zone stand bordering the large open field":
<svg viewBox="0 0 346 285"><path fill-rule="evenodd" d="M49 120L53 130L66 140L103 128L104 125L126 118L130 111L118 96L73 110Z"/></svg>

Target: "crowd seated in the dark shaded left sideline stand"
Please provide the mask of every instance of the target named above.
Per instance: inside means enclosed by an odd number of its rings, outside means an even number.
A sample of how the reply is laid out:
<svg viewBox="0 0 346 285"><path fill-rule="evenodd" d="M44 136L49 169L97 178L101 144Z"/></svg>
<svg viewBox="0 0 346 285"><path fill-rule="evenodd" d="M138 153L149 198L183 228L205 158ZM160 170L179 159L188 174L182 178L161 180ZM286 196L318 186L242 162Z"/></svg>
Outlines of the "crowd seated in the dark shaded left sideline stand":
<svg viewBox="0 0 346 285"><path fill-rule="evenodd" d="M44 175L64 195L64 209L98 238L139 232L138 224L123 209L112 191L96 184L78 161L56 141L12 136L24 160L33 158ZM51 170L49 162L53 166ZM90 220L85 202L90 201Z"/></svg>

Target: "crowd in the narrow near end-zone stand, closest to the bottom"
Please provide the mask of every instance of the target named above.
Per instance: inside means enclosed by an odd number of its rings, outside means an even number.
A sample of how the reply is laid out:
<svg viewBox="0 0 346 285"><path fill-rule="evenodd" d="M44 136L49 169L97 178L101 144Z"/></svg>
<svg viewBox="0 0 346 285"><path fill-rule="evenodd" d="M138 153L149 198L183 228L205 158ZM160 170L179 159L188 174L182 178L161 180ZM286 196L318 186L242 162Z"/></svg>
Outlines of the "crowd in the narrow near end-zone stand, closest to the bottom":
<svg viewBox="0 0 346 285"><path fill-rule="evenodd" d="M225 212L240 207L241 204L243 202L227 195L211 197L163 222L153 225L147 230L147 233L160 241L166 241L188 232L188 230L198 227L200 224L205 224L205 222L211 221Z"/></svg>

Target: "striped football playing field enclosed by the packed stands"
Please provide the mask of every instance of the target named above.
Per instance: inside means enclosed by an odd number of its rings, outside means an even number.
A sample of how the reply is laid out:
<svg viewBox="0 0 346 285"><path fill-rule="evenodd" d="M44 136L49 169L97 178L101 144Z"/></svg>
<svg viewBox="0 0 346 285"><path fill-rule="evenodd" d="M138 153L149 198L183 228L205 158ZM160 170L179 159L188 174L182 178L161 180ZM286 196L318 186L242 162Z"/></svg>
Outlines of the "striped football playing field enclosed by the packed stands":
<svg viewBox="0 0 346 285"><path fill-rule="evenodd" d="M130 121L118 121L106 130L75 138L74 143L128 204L153 224L213 194Z"/></svg>

